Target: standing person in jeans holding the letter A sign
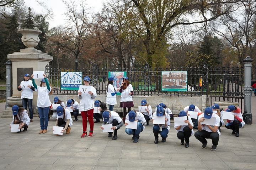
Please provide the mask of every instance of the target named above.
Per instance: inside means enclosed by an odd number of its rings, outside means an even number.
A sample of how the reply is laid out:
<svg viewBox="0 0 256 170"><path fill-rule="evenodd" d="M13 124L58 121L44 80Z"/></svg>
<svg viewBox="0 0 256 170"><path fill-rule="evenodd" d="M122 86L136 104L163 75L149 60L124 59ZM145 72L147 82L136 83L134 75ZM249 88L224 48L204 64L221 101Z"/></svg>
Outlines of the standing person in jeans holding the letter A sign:
<svg viewBox="0 0 256 170"><path fill-rule="evenodd" d="M21 88L21 85L18 86L18 91L21 91L21 100L22 100L22 106L24 109L27 109L27 105L28 105L28 109L30 111L30 122L33 121L33 107L32 107L32 102L33 102L33 91L34 87L33 87L33 83L30 80L30 75L28 73L26 73L24 75L24 79L22 82L27 82L28 85L27 87L24 87L24 89Z"/></svg>

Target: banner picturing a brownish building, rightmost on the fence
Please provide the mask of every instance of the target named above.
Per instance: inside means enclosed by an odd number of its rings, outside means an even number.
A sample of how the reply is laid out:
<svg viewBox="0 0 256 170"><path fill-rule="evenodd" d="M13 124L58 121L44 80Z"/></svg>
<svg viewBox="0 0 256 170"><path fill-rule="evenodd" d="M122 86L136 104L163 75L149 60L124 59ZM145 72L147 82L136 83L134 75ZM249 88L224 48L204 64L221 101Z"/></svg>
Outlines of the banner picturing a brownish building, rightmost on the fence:
<svg viewBox="0 0 256 170"><path fill-rule="evenodd" d="M162 91L187 91L187 71L162 72Z"/></svg>

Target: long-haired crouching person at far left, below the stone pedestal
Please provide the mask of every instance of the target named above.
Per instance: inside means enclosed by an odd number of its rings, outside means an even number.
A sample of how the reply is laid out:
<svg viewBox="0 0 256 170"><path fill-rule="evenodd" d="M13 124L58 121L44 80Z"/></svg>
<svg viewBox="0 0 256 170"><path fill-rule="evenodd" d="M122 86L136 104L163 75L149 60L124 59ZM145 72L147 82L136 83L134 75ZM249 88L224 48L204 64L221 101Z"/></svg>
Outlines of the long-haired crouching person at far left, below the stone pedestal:
<svg viewBox="0 0 256 170"><path fill-rule="evenodd" d="M30 123L30 118L28 117L27 110L24 108L19 108L17 105L12 106L12 114L13 114L13 120L10 124L11 125L20 125L18 129L20 129L19 132L21 132L21 128L24 128L23 132L27 131L28 124Z"/></svg>

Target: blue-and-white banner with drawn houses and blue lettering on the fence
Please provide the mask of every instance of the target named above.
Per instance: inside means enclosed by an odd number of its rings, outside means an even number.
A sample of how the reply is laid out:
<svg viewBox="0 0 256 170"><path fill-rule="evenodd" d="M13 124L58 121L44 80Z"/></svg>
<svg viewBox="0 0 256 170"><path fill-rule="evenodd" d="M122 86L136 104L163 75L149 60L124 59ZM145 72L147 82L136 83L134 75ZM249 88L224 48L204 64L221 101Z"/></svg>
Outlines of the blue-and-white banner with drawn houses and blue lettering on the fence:
<svg viewBox="0 0 256 170"><path fill-rule="evenodd" d="M61 90L78 90L82 84L82 72L61 72Z"/></svg>

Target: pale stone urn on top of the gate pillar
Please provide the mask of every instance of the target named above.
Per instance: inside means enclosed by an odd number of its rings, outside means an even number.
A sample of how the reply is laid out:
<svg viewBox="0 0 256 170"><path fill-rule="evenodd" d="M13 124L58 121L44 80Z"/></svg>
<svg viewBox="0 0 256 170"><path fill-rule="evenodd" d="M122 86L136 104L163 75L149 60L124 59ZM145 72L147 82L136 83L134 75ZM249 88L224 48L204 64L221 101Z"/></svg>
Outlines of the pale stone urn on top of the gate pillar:
<svg viewBox="0 0 256 170"><path fill-rule="evenodd" d="M40 41L38 35L42 34L41 30L22 28L18 29L18 32L22 34L21 41L28 47L28 49L34 49Z"/></svg>

